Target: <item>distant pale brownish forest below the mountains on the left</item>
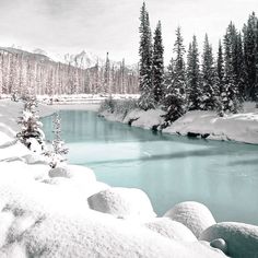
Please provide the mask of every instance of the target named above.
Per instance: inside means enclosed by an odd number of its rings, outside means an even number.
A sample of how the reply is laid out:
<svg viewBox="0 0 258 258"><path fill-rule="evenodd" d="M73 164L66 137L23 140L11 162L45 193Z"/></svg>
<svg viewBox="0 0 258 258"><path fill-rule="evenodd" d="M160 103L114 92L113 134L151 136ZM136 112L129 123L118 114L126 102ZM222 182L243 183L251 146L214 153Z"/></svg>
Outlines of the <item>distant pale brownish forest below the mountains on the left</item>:
<svg viewBox="0 0 258 258"><path fill-rule="evenodd" d="M137 93L138 71L120 66L96 63L90 69L54 62L43 55L0 51L1 94Z"/></svg>

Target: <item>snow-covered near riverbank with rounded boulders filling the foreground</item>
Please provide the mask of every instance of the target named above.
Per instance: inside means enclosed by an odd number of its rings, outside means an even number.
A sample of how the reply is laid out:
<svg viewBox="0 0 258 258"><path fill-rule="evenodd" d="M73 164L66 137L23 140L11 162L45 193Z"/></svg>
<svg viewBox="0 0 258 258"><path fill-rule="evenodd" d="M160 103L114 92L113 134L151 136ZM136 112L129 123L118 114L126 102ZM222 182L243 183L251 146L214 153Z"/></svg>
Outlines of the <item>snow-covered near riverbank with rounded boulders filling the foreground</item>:
<svg viewBox="0 0 258 258"><path fill-rule="evenodd" d="M109 187L86 167L50 169L14 141L21 104L0 106L0 257L258 257L257 226L216 224L197 202L156 218L139 189Z"/></svg>

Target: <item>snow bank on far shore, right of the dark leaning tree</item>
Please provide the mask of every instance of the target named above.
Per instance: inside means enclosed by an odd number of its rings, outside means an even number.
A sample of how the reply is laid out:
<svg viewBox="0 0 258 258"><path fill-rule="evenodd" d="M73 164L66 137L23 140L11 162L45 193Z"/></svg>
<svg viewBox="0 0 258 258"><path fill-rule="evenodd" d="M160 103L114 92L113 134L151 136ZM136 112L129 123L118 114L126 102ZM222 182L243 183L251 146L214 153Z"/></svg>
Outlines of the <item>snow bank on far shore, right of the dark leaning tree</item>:
<svg viewBox="0 0 258 258"><path fill-rule="evenodd" d="M258 144L258 112L218 117L213 112L188 112L163 132L195 133L212 140L231 140Z"/></svg>

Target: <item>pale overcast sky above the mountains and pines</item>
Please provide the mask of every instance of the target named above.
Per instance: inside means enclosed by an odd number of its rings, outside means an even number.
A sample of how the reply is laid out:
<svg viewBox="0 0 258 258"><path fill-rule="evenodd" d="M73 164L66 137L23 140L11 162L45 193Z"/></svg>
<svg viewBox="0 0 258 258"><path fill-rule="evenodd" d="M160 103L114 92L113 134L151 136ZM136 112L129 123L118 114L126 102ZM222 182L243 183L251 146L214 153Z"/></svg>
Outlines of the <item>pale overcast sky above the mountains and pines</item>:
<svg viewBox="0 0 258 258"><path fill-rule="evenodd" d="M258 0L146 0L151 26L162 21L166 61L175 30L185 45L204 33L215 45L232 20L242 28ZM138 61L139 12L142 0L0 0L0 46L21 46L47 52L75 54L85 49L114 60ZM199 45L200 45L199 44Z"/></svg>

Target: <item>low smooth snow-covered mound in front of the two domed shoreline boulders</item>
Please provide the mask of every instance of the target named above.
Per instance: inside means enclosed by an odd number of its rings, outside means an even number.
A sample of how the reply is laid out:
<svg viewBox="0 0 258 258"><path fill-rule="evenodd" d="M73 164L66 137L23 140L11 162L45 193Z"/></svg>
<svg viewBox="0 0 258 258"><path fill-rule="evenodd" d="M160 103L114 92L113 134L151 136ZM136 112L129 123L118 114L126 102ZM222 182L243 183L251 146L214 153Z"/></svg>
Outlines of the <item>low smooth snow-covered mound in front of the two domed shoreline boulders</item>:
<svg viewBox="0 0 258 258"><path fill-rule="evenodd" d="M156 218L144 224L149 230L154 231L165 237L175 241L195 242L197 241L192 232L177 221L168 218Z"/></svg>

